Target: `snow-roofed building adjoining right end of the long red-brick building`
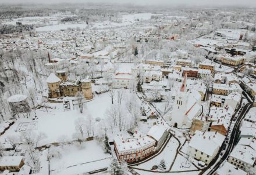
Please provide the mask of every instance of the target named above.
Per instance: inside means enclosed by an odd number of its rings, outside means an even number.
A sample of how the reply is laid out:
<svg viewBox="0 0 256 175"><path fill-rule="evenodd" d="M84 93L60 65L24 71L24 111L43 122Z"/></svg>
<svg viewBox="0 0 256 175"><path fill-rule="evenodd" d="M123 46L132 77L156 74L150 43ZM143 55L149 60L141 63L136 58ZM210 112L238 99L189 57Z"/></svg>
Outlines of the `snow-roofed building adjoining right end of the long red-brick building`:
<svg viewBox="0 0 256 175"><path fill-rule="evenodd" d="M147 133L147 136L156 141L156 148L159 150L168 136L168 129L163 124L154 125Z"/></svg>

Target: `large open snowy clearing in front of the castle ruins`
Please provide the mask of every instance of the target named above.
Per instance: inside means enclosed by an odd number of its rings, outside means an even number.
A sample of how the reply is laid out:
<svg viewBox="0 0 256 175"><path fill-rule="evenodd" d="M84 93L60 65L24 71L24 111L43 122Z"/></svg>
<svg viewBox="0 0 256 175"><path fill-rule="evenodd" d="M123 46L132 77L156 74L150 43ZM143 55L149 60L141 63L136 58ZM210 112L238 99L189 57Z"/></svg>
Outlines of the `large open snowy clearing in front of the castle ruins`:
<svg viewBox="0 0 256 175"><path fill-rule="evenodd" d="M115 91L117 91L115 89ZM123 99L129 99L130 90L121 90L123 93ZM115 93L117 94L117 93ZM136 96L137 97L137 96ZM114 97L114 102L116 103L117 99ZM44 133L46 138L43 138L38 143L38 146L55 143L59 141L59 137L65 136L67 141L74 140L72 135L75 133L74 122L78 118L86 119L88 115L91 115L93 119L101 118L102 122L106 121L105 124L109 124L108 115L106 114L108 110L111 110L111 97L109 92L103 93L100 95L95 95L94 99L88 101L84 105L84 112L81 114L77 105L74 106L74 110L64 111L63 104L50 104L54 107L54 110L48 110L46 112L43 108L37 110L37 119L32 121L31 118L20 118L15 121L15 124L8 129L5 134L0 137L0 142L4 143L5 138L8 136L17 136L20 137L19 130L25 131L27 129L33 130L34 133ZM122 103L122 108L125 114L127 114L126 103ZM37 122L37 127L32 127L24 124L24 122ZM95 122L95 120L94 120ZM98 132L98 122L95 122L95 131L94 136Z"/></svg>

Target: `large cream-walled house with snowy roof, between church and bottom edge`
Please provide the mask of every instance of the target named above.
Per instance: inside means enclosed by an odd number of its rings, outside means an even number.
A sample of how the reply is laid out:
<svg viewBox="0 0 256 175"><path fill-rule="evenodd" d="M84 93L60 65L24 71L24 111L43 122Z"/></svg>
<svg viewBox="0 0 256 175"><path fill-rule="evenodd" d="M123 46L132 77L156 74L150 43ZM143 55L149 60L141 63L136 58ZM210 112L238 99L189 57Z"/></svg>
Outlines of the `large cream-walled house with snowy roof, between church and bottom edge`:
<svg viewBox="0 0 256 175"><path fill-rule="evenodd" d="M218 132L201 132L196 130L189 142L190 155L208 164L218 154L224 140L225 136Z"/></svg>

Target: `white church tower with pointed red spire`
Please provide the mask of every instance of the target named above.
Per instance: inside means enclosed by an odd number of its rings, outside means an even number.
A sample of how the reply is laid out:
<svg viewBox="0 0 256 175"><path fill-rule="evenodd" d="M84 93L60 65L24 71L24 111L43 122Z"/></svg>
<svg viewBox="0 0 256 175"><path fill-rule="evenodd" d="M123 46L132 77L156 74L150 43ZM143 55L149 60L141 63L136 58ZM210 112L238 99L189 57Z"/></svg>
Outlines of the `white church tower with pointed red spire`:
<svg viewBox="0 0 256 175"><path fill-rule="evenodd" d="M172 116L170 118L170 123L174 127L186 128L187 123L187 99L189 93L187 93L187 72L185 73L182 86L177 90L175 101L173 104Z"/></svg>

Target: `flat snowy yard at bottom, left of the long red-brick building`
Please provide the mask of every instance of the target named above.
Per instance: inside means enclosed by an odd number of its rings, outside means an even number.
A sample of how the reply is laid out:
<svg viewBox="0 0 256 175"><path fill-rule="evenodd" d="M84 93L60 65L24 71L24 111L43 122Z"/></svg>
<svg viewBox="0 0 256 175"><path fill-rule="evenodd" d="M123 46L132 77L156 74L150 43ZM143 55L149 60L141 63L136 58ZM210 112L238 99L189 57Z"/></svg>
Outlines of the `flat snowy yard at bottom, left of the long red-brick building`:
<svg viewBox="0 0 256 175"><path fill-rule="evenodd" d="M108 167L112 155L105 154L97 141L86 141L84 148L65 145L61 148L62 157L50 161L51 174L72 174L90 172ZM73 172L74 171L74 172Z"/></svg>

